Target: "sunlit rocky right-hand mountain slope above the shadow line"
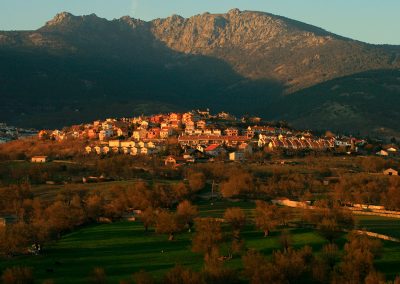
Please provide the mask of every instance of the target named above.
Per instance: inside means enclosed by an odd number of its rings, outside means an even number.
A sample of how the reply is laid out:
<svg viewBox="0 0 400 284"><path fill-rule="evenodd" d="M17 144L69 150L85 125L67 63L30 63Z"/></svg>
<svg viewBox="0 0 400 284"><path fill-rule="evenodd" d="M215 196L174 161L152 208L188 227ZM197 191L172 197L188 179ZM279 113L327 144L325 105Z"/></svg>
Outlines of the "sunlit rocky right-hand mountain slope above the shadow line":
<svg viewBox="0 0 400 284"><path fill-rule="evenodd" d="M371 69L392 68L393 53L320 28L261 12L234 9L152 23L173 50L214 56L244 77L280 81L288 92Z"/></svg>

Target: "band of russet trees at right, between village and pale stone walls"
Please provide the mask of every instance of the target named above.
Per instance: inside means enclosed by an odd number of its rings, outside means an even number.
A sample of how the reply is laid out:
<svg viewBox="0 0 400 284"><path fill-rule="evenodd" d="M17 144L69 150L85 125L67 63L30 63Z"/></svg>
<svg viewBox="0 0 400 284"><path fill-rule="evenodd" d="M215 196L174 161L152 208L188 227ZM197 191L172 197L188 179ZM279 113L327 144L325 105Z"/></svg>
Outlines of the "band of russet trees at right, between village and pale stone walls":
<svg viewBox="0 0 400 284"><path fill-rule="evenodd" d="M301 164L304 160L305 164ZM197 166L208 179L219 182L225 198L315 200L317 195L341 204L383 205L400 209L400 178L385 176L383 168L398 167L396 160L378 157L340 160L305 158L295 166L209 164ZM368 172L368 171L371 171ZM379 173L379 174L378 174Z"/></svg>

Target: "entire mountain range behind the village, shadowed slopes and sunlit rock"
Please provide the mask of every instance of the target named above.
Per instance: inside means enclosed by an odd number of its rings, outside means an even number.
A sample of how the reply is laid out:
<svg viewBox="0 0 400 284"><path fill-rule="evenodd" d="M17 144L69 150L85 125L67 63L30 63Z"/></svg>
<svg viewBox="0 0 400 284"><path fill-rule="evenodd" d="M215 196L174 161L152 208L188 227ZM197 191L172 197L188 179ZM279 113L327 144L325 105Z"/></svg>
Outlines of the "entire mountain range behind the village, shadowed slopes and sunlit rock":
<svg viewBox="0 0 400 284"><path fill-rule="evenodd" d="M0 121L17 126L210 107L400 133L400 46L263 12L149 22L63 12L35 31L0 32L0 62Z"/></svg>

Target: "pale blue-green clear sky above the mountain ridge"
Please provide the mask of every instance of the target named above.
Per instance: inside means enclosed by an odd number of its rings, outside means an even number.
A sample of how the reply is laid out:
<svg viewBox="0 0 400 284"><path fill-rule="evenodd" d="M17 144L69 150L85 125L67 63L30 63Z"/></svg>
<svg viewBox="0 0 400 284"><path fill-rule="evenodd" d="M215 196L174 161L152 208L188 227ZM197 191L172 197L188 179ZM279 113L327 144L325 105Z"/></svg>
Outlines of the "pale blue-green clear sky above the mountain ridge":
<svg viewBox="0 0 400 284"><path fill-rule="evenodd" d="M370 43L400 44L400 0L0 0L0 30L36 29L61 11L151 20L236 7L289 17Z"/></svg>

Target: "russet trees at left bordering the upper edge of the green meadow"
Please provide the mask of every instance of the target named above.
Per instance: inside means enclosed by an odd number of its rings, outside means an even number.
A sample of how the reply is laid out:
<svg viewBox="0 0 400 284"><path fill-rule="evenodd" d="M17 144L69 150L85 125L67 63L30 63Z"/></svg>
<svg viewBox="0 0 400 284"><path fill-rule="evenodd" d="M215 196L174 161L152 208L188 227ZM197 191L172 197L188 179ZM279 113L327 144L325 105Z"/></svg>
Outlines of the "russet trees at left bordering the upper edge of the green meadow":
<svg viewBox="0 0 400 284"><path fill-rule="evenodd" d="M182 194L184 192L184 194ZM190 189L183 183L138 182L131 188L112 187L108 191L61 191L56 199L43 200L31 192L29 184L1 189L0 212L15 216L15 224L0 229L0 253L7 256L27 253L30 246L39 253L44 245L84 224L120 220L132 209L141 209L147 230L168 234L190 230L197 207L184 197ZM177 212L169 212L175 208Z"/></svg>

